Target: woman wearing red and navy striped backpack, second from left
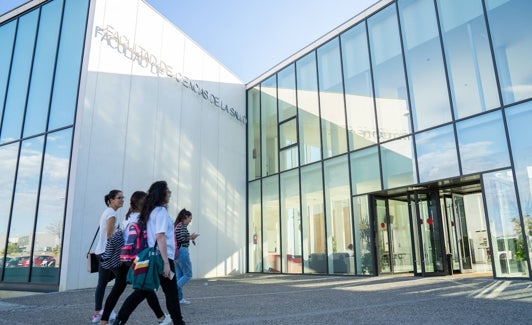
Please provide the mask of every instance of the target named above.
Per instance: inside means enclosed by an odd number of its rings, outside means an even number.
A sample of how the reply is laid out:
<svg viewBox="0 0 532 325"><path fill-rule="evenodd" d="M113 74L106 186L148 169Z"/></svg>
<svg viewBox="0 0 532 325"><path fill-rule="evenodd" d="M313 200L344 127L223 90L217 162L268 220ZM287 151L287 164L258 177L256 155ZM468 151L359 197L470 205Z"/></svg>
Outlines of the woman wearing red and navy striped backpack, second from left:
<svg viewBox="0 0 532 325"><path fill-rule="evenodd" d="M121 263L114 270L116 276L115 283L111 289L111 292L109 293L109 296L107 296L107 300L105 300L105 306L103 308L100 325L106 325L108 323L109 317L111 316L111 310L115 308L120 295L122 295L126 289L127 273L131 267L132 260L134 259L134 253L138 253L144 249L146 245L146 240L143 238L145 233L143 230L146 229L146 227L145 225L138 224L138 218L140 211L142 210L142 206L144 205L146 196L146 192L143 191L136 191L133 193L133 195L131 195L129 210L126 213L126 217L122 221L121 225L124 247L128 247L129 250L122 249L122 252L126 251L128 254L126 256L123 254L120 256ZM170 319L170 315L165 315L161 309L159 298L157 297L155 291L149 292L146 296L146 300L150 308L155 313L155 317L157 317L159 324L166 325L171 323L172 320Z"/></svg>

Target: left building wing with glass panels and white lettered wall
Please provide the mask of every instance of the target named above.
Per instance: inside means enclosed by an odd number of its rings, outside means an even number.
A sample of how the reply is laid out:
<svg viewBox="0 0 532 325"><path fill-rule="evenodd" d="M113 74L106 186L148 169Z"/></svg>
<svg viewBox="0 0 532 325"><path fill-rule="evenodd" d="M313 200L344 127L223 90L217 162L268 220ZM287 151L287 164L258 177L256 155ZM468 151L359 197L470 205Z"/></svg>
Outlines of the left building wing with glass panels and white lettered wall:
<svg viewBox="0 0 532 325"><path fill-rule="evenodd" d="M194 276L245 271L245 85L144 1L0 16L0 108L0 290L94 287L105 194L120 222L161 179L201 234Z"/></svg>

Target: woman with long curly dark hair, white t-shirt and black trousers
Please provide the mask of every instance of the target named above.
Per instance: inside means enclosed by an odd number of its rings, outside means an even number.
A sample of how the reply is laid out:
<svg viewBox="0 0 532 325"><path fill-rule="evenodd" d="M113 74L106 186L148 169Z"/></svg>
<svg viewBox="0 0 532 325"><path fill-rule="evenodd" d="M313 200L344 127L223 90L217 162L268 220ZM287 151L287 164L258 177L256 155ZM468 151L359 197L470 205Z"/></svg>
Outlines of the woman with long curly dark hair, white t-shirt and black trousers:
<svg viewBox="0 0 532 325"><path fill-rule="evenodd" d="M148 246L155 247L163 260L163 274L159 275L163 289L166 308L174 324L185 324L181 316L181 307L177 299L177 283L172 275L175 272L173 258L175 256L174 227L166 210L171 192L165 181L153 183L148 190L146 202L139 216L139 222L146 224ZM150 291L135 289L124 301L113 324L125 324L135 308L144 300Z"/></svg>

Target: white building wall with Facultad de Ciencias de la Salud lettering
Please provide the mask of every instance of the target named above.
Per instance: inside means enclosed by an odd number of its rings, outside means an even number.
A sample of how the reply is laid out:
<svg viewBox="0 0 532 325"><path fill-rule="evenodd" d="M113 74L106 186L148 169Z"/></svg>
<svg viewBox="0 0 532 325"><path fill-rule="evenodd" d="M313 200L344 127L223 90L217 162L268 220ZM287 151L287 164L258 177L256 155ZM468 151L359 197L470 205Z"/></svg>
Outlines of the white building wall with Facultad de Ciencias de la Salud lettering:
<svg viewBox="0 0 532 325"><path fill-rule="evenodd" d="M157 180L172 190L172 217L184 207L193 213L189 230L200 234L191 248L194 277L244 272L244 84L143 1L91 6L60 290L96 285L97 274L85 271L85 253L105 194L124 191L122 218L131 194ZM127 43L171 69L157 73L132 60Z"/></svg>

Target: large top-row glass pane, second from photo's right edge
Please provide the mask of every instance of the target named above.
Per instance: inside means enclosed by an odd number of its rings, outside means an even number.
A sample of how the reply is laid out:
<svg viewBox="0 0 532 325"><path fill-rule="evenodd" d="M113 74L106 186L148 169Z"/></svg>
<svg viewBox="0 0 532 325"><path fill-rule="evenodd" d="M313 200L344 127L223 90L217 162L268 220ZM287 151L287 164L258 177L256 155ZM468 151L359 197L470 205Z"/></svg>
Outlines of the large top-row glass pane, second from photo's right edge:
<svg viewBox="0 0 532 325"><path fill-rule="evenodd" d="M455 118L500 106L481 0L439 0Z"/></svg>

